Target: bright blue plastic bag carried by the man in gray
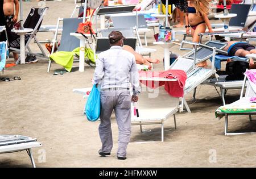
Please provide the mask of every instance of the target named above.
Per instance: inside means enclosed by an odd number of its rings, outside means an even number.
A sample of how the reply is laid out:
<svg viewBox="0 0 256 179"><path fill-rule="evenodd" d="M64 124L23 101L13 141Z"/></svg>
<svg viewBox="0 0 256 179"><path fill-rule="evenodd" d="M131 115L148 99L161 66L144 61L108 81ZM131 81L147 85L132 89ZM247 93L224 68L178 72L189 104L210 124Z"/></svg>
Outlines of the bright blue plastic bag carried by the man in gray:
<svg viewBox="0 0 256 179"><path fill-rule="evenodd" d="M93 85L85 105L85 114L89 121L96 121L101 115L101 94L96 85Z"/></svg>

